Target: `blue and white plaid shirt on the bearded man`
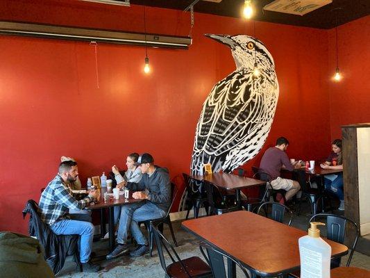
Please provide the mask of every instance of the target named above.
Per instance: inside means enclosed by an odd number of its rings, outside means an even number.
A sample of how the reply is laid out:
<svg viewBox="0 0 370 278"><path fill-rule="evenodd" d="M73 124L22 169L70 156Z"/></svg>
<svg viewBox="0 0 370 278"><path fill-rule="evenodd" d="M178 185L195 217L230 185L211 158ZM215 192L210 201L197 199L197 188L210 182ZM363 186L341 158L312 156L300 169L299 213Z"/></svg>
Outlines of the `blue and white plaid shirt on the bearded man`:
<svg viewBox="0 0 370 278"><path fill-rule="evenodd" d="M41 220L52 225L58 220L69 219L69 209L83 209L91 201L92 197L89 196L80 201L74 199L72 191L62 177L56 175L40 197Z"/></svg>

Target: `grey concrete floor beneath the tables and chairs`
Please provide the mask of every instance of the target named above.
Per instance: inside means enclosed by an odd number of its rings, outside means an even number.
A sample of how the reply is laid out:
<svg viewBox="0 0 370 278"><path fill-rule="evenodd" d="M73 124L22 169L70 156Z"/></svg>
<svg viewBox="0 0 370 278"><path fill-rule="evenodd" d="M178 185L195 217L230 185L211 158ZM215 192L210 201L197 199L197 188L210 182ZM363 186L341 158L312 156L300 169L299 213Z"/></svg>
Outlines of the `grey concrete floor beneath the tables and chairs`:
<svg viewBox="0 0 370 278"><path fill-rule="evenodd" d="M310 219L310 213L308 213L308 211L309 207L304 206L301 215L298 217L294 215L292 226L297 227L298 229L307 229L307 223ZM176 247L176 252L178 252L180 258L187 258L194 255L203 258L199 252L199 240L196 240L194 236L181 229L180 224L180 222L173 223L176 239L179 245ZM171 242L171 236L169 234L169 230L166 229L166 226L165 236ZM133 245L132 248L134 249L135 246ZM108 240L95 242L94 252L96 252L96 255L98 256L106 254L108 252ZM69 257L65 263L65 267L57 277L165 277L165 272L162 270L156 250L154 250L153 257L150 257L149 254L135 259L132 259L130 256L121 256L117 259L106 261L102 256L100 260L99 258L96 258L94 261L101 265L103 268L101 271L97 273L76 272L75 264L72 262L72 258ZM344 256L342 264L345 264L346 261L347 256ZM351 266L370 270L370 256L355 252L351 261Z"/></svg>

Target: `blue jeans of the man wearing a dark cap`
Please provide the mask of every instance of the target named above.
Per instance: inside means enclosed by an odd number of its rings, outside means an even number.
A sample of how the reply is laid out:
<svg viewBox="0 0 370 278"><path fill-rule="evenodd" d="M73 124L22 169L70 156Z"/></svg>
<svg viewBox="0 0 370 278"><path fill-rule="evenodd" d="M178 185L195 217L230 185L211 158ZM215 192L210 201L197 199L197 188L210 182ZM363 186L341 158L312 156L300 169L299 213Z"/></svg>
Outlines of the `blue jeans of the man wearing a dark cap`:
<svg viewBox="0 0 370 278"><path fill-rule="evenodd" d="M148 240L142 234L138 222L165 217L166 212L152 202L141 202L137 204L126 204L121 206L121 216L117 233L117 242L125 244L128 229L135 238L137 244L147 245Z"/></svg>

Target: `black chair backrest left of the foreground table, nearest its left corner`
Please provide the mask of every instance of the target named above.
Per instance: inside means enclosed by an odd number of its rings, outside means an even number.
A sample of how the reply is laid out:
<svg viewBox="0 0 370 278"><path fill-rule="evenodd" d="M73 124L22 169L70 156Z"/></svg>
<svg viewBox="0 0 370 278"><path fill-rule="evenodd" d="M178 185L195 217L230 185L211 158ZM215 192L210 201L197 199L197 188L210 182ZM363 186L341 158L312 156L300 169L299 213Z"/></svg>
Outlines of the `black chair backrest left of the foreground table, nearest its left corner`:
<svg viewBox="0 0 370 278"><path fill-rule="evenodd" d="M176 261L178 261L181 264L183 270L185 270L185 274L187 275L187 277L190 278L191 276L189 272L187 271L187 268L183 264L183 261L181 261L180 257L176 253L176 250L171 245L171 243L169 243L167 238L165 238L165 236L163 236L153 224L151 224L151 230L153 231L155 244L157 245L160 265L162 266L163 270L165 270L166 274L169 275L169 273L167 272L167 265L166 265L164 250L166 250L172 263L176 263Z"/></svg>

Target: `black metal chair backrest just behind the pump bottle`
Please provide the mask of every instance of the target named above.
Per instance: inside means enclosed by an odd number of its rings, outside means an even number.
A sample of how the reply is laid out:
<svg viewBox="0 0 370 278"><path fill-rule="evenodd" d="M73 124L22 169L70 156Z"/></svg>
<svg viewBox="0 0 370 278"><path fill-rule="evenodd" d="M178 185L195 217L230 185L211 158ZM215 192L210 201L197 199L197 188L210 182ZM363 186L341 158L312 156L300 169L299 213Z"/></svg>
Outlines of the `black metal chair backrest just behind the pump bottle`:
<svg viewBox="0 0 370 278"><path fill-rule="evenodd" d="M353 220L346 218L342 215L335 215L330 213L317 213L312 216L310 221L308 222L308 226L310 227L310 222L317 221L317 218L326 218L326 237L329 240L333 240L337 243L344 244L346 239L346 226L347 229L355 229L355 238L353 238L352 243L350 244L351 252L348 256L348 261L346 266L349 266L352 260L353 252L355 251L355 247L358 242L358 236L360 231L358 229L358 224L356 224Z"/></svg>

